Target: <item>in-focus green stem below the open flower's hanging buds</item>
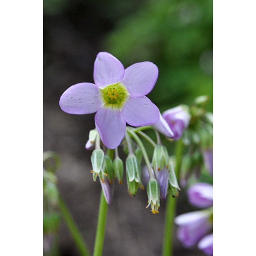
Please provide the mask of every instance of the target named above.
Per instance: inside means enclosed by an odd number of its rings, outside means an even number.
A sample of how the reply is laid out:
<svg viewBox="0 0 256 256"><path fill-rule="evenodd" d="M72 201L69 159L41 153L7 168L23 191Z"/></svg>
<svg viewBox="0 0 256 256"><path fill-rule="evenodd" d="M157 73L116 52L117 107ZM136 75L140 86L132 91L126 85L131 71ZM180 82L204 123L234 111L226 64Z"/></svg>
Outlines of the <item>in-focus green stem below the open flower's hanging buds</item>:
<svg viewBox="0 0 256 256"><path fill-rule="evenodd" d="M103 191L101 190L99 216L98 216L98 224L97 224L97 230L96 230L93 256L102 255L107 213L108 213L108 204L106 202Z"/></svg>

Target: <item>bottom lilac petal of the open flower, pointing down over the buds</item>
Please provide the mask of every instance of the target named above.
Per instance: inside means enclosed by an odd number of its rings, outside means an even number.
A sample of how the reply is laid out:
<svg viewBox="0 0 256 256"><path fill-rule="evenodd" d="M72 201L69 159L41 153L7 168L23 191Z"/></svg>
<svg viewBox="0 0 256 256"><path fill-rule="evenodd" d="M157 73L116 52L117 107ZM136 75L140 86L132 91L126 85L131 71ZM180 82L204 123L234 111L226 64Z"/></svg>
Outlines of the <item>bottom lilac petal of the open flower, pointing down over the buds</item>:
<svg viewBox="0 0 256 256"><path fill-rule="evenodd" d="M95 125L107 148L114 149L120 145L125 134L125 121L119 110L100 109L95 115Z"/></svg>

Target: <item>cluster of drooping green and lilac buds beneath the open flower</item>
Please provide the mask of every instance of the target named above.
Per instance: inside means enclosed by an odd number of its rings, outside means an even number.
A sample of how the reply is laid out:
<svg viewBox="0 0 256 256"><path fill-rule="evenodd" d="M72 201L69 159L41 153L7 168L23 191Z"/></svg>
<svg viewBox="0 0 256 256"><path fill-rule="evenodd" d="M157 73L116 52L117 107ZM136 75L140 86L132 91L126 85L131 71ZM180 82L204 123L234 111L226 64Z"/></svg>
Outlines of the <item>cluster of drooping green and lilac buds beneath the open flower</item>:
<svg viewBox="0 0 256 256"><path fill-rule="evenodd" d="M128 128L128 130L129 129L130 128ZM93 133L94 131L97 130L93 130ZM92 131L90 135L92 135ZM123 183L124 164L118 155L118 148L115 149L115 157L112 161L111 157L100 148L99 135L96 134L95 136L93 134L93 138L91 139L92 140L88 141L86 145L91 143L94 144L95 147L91 156L93 180L96 181L99 176L106 202L110 204L113 196L112 183L114 179L116 178L119 184ZM167 148L160 142L158 145L155 145L151 164L149 163L150 170L148 170L149 168L146 166L146 169L144 167L141 171L142 150L139 145L132 140L128 132L126 132L125 140L122 144L124 145L124 152L127 154L125 171L129 195L135 196L138 188L144 190L144 183L148 194L148 205L146 208L151 206L151 212L154 214L158 213L160 198L165 200L168 192L173 197L177 197L180 190ZM150 171L150 173L148 171Z"/></svg>

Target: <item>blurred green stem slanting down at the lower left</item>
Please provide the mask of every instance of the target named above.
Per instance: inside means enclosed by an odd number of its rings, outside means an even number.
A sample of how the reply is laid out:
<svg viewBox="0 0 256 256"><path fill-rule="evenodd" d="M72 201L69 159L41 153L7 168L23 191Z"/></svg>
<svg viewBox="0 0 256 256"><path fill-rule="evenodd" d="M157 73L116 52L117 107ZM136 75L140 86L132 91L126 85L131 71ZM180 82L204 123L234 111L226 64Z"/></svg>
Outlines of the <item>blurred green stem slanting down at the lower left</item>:
<svg viewBox="0 0 256 256"><path fill-rule="evenodd" d="M78 228L76 227L76 223L74 222L74 220L73 220L70 212L68 211L68 208L67 208L66 204L64 203L63 199L61 198L61 196L59 196L59 208L60 208L61 215L67 224L69 232L74 239L76 248L79 251L80 255L89 256L90 254L87 249L87 246L84 243L84 240L83 240Z"/></svg>

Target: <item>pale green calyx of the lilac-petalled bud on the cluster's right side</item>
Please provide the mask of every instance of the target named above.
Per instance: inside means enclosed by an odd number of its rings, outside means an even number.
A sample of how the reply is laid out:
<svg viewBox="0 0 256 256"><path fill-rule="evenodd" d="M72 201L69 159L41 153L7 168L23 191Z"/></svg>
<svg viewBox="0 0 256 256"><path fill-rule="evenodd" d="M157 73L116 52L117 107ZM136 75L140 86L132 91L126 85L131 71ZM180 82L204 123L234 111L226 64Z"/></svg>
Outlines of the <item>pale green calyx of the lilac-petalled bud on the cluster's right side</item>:
<svg viewBox="0 0 256 256"><path fill-rule="evenodd" d="M156 171L163 170L165 167L168 169L169 156L167 148L163 145L156 145L152 157L153 169Z"/></svg>

